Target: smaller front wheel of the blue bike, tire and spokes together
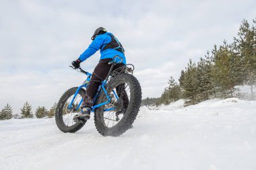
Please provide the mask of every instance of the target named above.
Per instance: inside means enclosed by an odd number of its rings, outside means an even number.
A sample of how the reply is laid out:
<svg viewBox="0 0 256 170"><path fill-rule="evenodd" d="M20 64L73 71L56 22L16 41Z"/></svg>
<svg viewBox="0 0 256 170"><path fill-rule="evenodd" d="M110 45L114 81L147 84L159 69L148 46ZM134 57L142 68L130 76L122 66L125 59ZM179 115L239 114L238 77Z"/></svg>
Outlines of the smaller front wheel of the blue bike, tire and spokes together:
<svg viewBox="0 0 256 170"><path fill-rule="evenodd" d="M81 109L78 108L78 105L84 98L84 95L86 94L86 91L84 89L79 90L79 92L75 96L75 99L73 100L72 107L68 108L69 104L73 99L75 91L77 91L77 88L78 87L72 87L71 89L68 89L61 96L61 99L59 99L59 102L57 104L55 121L59 130L65 133L77 132L77 130L81 129L86 123L76 123L73 121L73 116L75 116L75 114L78 114L81 111Z"/></svg>

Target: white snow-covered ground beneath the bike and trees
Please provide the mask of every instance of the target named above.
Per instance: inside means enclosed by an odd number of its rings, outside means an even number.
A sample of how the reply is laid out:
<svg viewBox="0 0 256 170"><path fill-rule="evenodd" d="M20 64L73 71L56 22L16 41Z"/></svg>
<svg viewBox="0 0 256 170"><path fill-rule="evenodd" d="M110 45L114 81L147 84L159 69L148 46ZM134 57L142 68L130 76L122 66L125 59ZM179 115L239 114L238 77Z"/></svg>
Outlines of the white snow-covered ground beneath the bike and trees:
<svg viewBox="0 0 256 170"><path fill-rule="evenodd" d="M182 103L142 107L119 137L93 120L75 134L54 119L0 121L0 169L256 169L256 101Z"/></svg>

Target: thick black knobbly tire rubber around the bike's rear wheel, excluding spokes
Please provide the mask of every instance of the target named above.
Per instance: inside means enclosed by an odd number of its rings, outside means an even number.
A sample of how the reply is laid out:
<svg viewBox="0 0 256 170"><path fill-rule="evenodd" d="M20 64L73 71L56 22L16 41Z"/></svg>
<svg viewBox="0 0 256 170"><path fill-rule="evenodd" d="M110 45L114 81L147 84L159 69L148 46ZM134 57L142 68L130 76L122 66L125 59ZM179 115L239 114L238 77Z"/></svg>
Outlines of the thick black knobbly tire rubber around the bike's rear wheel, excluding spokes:
<svg viewBox="0 0 256 170"><path fill-rule="evenodd" d="M102 136L120 136L121 134L125 133L129 128L131 128L139 112L139 108L141 104L141 86L139 84L139 81L137 81L137 79L133 75L130 75L128 73L122 73L121 75L117 75L115 79L113 79L113 81L110 80L108 85L111 86L115 84L117 81L120 81L123 79L125 79L125 81L130 84L131 98L129 101L129 106L127 108L127 111L125 112L125 115L120 120L120 122L115 126L108 128L104 125L104 122L102 122L104 107L97 108L95 111L94 124L96 126L96 129L100 134L102 134ZM105 94L100 93L97 104L102 103L104 97L105 97Z"/></svg>

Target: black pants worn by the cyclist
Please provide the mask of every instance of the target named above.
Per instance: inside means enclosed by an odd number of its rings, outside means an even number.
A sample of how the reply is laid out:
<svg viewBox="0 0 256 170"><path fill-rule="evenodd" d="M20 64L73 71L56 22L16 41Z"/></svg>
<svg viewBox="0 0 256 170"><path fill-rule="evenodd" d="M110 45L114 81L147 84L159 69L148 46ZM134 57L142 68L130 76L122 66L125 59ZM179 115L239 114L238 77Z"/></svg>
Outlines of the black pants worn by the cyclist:
<svg viewBox="0 0 256 170"><path fill-rule="evenodd" d="M108 75L108 72L110 70L111 65L108 65L108 62L110 60L113 60L112 58L105 58L100 60L98 62L98 65L95 67L94 72L92 73L91 80L88 84L88 87L86 89L86 95L84 97L84 102L82 103L83 107L89 107L92 108L92 102L94 99L94 95L96 94L98 90L98 86L104 79L106 79L106 76ZM118 69L119 67L122 67L124 64L119 63L113 67L113 70Z"/></svg>

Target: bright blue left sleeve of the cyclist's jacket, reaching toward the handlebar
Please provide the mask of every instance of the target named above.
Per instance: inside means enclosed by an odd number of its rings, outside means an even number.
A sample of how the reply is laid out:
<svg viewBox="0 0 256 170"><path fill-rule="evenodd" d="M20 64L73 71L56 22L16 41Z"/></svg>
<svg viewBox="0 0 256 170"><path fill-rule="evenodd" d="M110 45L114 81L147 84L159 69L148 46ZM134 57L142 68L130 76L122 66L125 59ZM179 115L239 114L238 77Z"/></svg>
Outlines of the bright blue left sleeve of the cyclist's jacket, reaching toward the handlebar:
<svg viewBox="0 0 256 170"><path fill-rule="evenodd" d="M103 35L96 36L92 44L79 56L79 60L84 61L98 51L104 42L104 37Z"/></svg>

